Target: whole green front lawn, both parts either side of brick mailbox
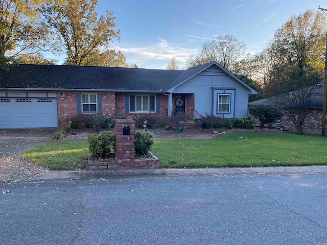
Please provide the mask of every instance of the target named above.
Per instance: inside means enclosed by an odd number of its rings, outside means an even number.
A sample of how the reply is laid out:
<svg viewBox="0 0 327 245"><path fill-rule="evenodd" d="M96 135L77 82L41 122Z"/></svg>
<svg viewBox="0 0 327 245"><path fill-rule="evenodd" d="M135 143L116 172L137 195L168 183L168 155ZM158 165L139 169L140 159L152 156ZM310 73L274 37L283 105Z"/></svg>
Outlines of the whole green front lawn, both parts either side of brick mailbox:
<svg viewBox="0 0 327 245"><path fill-rule="evenodd" d="M22 156L54 170L84 169L88 142L44 142ZM327 164L327 138L227 133L214 139L155 140L160 167L250 167Z"/></svg>

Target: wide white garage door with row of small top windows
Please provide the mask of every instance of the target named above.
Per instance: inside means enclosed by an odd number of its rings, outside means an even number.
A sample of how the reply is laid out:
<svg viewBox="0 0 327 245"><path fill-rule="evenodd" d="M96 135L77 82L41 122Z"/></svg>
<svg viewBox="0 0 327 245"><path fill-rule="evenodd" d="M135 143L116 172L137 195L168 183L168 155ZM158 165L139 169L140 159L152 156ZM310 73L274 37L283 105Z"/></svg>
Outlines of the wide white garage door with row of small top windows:
<svg viewBox="0 0 327 245"><path fill-rule="evenodd" d="M0 98L0 129L58 127L57 99Z"/></svg>

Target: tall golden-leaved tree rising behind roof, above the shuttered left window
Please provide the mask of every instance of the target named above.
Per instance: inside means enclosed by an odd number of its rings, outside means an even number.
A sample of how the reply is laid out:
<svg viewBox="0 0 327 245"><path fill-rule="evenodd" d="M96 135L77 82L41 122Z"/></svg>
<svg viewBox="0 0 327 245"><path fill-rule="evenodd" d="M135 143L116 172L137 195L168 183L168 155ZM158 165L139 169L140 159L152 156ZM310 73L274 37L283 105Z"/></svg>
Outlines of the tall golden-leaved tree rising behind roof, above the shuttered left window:
<svg viewBox="0 0 327 245"><path fill-rule="evenodd" d="M97 5L97 0L55 0L43 8L46 21L65 45L65 64L85 65L92 54L108 51L110 42L120 40L113 12L106 10L98 18Z"/></svg>

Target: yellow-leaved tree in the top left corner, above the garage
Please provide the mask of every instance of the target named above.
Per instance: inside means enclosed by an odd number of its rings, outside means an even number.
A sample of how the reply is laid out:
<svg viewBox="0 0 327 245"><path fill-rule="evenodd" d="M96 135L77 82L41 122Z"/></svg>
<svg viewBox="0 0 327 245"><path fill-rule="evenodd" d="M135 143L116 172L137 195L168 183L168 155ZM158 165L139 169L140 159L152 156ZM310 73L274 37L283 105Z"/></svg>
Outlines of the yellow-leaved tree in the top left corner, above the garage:
<svg viewBox="0 0 327 245"><path fill-rule="evenodd" d="M49 48L49 32L41 21L39 7L51 0L0 1L0 67L14 58Z"/></svg>

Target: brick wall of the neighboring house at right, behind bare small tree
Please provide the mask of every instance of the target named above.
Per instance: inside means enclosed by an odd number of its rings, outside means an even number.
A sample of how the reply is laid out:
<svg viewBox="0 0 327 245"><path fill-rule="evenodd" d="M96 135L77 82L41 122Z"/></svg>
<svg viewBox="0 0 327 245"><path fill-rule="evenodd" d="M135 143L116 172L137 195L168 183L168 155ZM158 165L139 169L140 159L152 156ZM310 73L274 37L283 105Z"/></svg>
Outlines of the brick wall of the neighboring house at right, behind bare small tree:
<svg viewBox="0 0 327 245"><path fill-rule="evenodd" d="M278 124L278 122L276 123ZM290 118L286 115L283 116L281 124L284 126L290 126L291 131L296 131L294 124ZM321 134L322 131L322 110L321 109L310 109L307 115L305 124L303 125L304 133Z"/></svg>

